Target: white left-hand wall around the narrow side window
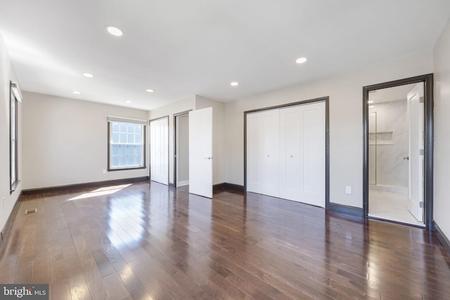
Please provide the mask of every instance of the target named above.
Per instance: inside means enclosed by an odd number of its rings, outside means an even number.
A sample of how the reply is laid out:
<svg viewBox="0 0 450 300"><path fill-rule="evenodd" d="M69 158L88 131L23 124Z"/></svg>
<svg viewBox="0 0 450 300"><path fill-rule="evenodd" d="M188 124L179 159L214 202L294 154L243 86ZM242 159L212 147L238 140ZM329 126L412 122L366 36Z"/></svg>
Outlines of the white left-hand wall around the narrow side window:
<svg viewBox="0 0 450 300"><path fill-rule="evenodd" d="M3 232L6 221L13 211L14 204L22 191L22 105L18 105L18 178L21 180L18 187L10 195L9 176L9 101L10 81L15 81L8 51L0 35L0 231Z"/></svg>

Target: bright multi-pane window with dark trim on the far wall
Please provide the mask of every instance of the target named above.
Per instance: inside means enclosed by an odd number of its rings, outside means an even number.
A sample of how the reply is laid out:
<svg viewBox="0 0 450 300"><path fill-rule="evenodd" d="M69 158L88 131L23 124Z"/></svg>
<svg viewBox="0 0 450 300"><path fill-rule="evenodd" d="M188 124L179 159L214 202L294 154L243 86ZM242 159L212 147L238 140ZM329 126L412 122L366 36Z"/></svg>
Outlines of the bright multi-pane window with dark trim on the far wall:
<svg viewBox="0 0 450 300"><path fill-rule="evenodd" d="M108 117L108 170L146 167L146 121Z"/></svg>

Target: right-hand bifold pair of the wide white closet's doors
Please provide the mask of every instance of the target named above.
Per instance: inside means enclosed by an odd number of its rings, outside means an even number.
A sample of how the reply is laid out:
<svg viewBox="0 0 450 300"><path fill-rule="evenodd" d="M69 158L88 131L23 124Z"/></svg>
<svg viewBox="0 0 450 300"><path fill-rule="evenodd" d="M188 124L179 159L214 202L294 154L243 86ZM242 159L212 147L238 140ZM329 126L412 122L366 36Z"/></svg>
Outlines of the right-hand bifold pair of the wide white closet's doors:
<svg viewBox="0 0 450 300"><path fill-rule="evenodd" d="M325 103L280 110L280 197L325 207Z"/></svg>

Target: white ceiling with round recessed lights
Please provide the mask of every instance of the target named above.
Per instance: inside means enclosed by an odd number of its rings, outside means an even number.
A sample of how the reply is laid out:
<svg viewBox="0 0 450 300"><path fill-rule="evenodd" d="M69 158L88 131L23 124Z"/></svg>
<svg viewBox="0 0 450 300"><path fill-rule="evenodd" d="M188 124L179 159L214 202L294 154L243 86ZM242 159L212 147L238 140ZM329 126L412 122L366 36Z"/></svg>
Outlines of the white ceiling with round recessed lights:
<svg viewBox="0 0 450 300"><path fill-rule="evenodd" d="M449 16L449 0L0 0L0 34L23 90L151 110L193 94L236 100L424 51Z"/></svg>

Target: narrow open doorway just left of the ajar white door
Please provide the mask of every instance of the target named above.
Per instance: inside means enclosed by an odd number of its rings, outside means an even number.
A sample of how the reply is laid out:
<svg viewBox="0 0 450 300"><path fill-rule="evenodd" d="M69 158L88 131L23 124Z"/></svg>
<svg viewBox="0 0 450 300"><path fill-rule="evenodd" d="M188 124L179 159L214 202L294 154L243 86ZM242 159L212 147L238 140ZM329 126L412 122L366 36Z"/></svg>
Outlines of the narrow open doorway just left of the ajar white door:
<svg viewBox="0 0 450 300"><path fill-rule="evenodd" d="M175 155L174 185L176 188L189 185L189 114L188 112L174 116L175 123Z"/></svg>

